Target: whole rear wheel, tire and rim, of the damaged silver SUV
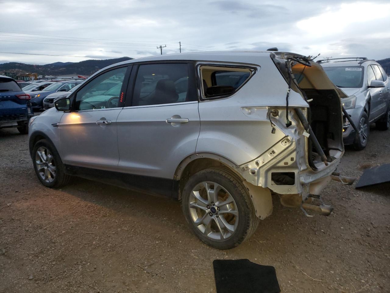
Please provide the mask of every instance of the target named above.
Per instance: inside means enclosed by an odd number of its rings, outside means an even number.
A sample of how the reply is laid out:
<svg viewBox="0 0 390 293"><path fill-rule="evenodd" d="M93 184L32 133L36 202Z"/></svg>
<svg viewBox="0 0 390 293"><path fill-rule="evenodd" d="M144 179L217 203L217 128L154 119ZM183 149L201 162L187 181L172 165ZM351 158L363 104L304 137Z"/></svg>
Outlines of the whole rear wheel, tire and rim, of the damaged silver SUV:
<svg viewBox="0 0 390 293"><path fill-rule="evenodd" d="M219 190L216 198L215 188ZM260 222L248 189L238 175L223 166L192 175L184 186L181 206L195 235L218 249L236 247L255 232Z"/></svg>

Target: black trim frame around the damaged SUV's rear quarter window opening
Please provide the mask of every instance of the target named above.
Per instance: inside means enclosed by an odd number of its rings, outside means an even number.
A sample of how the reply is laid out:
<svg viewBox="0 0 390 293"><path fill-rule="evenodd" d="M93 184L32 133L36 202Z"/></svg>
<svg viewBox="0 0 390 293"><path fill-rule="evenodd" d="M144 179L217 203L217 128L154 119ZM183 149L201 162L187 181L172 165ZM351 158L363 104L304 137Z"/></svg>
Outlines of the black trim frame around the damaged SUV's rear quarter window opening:
<svg viewBox="0 0 390 293"><path fill-rule="evenodd" d="M202 78L200 76L200 67L202 66L212 66L212 67L221 67L221 68L244 68L244 69L249 69L251 74L250 77L248 77L242 84L239 86L235 91L228 95L220 95L220 96L212 96L209 98L206 98L203 95L203 82L201 82ZM260 67L260 66L259 66ZM257 67L255 66L249 66L249 65L237 65L237 64L218 64L218 63L199 63L196 66L196 72L197 72L197 85L198 85L198 95L200 97L200 101L210 101L210 100L216 100L216 99L223 99L223 98L229 98L230 96L234 95L237 93L245 84L252 79L252 77L256 74L257 72Z"/></svg>

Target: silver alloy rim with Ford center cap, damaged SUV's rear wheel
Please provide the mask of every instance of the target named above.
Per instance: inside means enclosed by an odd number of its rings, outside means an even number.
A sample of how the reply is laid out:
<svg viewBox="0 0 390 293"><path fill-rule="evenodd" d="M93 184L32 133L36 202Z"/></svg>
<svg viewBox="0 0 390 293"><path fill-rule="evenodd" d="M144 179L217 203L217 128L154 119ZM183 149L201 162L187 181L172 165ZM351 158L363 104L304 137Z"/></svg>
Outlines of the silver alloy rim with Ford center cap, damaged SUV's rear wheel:
<svg viewBox="0 0 390 293"><path fill-rule="evenodd" d="M201 182L191 191L188 204L193 225L207 238L225 240L236 231L236 202L220 184Z"/></svg>

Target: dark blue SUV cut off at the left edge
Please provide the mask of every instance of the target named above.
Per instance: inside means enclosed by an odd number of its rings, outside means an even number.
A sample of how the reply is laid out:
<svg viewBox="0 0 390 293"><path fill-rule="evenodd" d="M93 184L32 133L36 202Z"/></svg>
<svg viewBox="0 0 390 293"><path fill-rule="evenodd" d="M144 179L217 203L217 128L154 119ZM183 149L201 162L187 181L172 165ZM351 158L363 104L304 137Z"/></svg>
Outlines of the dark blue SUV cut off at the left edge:
<svg viewBox="0 0 390 293"><path fill-rule="evenodd" d="M32 116L30 95L14 79L0 75L0 129L17 127L21 134L27 134Z"/></svg>

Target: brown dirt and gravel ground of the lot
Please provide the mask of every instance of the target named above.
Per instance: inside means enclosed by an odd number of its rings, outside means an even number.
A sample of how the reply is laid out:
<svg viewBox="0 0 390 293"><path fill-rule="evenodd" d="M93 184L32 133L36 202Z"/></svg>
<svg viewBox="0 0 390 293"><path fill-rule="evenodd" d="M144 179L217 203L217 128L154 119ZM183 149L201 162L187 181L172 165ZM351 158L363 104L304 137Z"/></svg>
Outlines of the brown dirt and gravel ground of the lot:
<svg viewBox="0 0 390 293"><path fill-rule="evenodd" d="M390 131L372 130L339 171L390 163ZM219 251L186 226L179 202L83 179L35 177L27 135L0 130L0 292L215 292L213 259L275 266L282 292L390 292L389 185L332 182L329 217L280 205L239 247Z"/></svg>

